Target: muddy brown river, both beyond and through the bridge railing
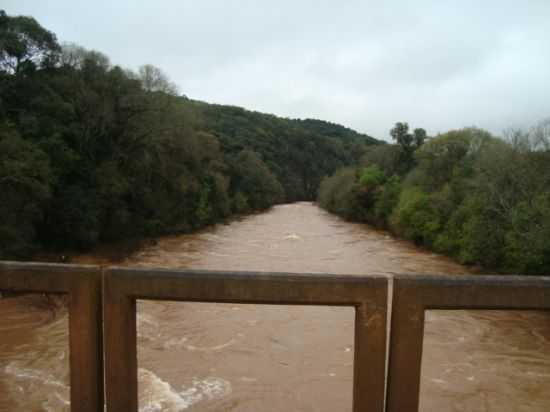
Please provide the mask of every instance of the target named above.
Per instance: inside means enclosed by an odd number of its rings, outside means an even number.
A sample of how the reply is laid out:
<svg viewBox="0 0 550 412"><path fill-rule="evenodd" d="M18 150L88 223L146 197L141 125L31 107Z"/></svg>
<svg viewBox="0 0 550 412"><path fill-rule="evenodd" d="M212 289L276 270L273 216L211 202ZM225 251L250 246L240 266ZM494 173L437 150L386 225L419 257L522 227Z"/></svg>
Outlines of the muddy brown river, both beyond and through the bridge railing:
<svg viewBox="0 0 550 412"><path fill-rule="evenodd" d="M471 273L311 203L282 205L125 255L80 263L284 272ZM0 411L65 411L67 314L40 296L0 299ZM353 310L138 302L139 404L153 411L350 411ZM421 410L550 410L550 317L426 316Z"/></svg>

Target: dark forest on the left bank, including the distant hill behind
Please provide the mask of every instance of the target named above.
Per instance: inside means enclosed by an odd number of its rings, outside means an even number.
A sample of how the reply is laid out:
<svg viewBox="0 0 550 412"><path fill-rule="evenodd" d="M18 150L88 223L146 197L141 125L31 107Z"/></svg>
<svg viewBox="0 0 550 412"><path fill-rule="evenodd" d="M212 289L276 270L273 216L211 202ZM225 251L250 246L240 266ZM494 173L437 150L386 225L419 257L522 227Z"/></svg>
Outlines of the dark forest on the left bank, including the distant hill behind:
<svg viewBox="0 0 550 412"><path fill-rule="evenodd" d="M375 143L188 99L154 66L123 69L0 11L0 259L314 200L324 176Z"/></svg>

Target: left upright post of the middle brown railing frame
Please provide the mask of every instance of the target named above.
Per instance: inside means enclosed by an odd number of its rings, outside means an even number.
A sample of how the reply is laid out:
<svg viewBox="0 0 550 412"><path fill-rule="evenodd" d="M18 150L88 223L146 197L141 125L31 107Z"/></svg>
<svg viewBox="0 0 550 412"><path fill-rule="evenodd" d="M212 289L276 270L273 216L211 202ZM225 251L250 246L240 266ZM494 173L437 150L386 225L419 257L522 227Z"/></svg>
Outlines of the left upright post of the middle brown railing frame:
<svg viewBox="0 0 550 412"><path fill-rule="evenodd" d="M136 300L104 275L105 386L109 412L137 412Z"/></svg>

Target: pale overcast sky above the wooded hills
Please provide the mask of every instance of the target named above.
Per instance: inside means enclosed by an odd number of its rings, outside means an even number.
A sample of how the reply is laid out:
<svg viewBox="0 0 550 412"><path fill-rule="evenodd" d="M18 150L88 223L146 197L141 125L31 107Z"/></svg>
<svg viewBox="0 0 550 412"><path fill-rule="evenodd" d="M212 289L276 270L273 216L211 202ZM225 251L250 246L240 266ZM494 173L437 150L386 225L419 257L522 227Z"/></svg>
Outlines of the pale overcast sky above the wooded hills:
<svg viewBox="0 0 550 412"><path fill-rule="evenodd" d="M1 0L185 95L388 139L550 116L550 0Z"/></svg>

